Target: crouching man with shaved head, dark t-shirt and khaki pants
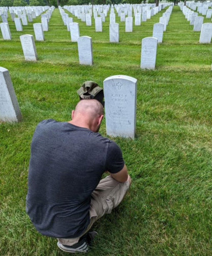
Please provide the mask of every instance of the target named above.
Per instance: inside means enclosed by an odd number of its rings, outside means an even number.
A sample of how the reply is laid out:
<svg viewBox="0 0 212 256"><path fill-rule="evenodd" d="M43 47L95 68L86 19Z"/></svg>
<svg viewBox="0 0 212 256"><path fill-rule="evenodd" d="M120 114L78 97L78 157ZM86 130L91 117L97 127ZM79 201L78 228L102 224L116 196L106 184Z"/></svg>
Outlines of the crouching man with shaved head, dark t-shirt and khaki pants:
<svg viewBox="0 0 212 256"><path fill-rule="evenodd" d="M131 178L119 146L98 131L103 106L78 102L72 120L40 122L31 146L26 212L67 252L87 252L93 223L124 198ZM102 179L102 174L109 176Z"/></svg>

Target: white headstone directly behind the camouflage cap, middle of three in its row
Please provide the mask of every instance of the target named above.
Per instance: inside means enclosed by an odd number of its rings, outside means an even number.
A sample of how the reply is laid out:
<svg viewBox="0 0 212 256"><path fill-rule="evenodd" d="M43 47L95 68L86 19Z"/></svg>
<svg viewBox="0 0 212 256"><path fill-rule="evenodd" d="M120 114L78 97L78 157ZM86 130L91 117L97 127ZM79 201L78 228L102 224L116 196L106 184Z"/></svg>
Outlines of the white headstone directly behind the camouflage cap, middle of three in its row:
<svg viewBox="0 0 212 256"><path fill-rule="evenodd" d="M77 46L80 64L93 65L92 38L89 36L78 37Z"/></svg>

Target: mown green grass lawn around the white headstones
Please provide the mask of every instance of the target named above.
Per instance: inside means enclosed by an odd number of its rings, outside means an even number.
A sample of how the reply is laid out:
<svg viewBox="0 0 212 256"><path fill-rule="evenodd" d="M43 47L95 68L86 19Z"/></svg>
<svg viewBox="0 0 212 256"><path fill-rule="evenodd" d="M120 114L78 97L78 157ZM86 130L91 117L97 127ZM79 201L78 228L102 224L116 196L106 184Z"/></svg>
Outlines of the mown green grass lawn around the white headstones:
<svg viewBox="0 0 212 256"><path fill-rule="evenodd" d="M92 37L91 67L79 65L58 9L45 41L36 41L37 62L24 60L19 40L34 35L33 24L17 32L8 18L12 40L0 37L0 66L10 72L23 120L0 124L0 255L66 255L25 214L32 136L43 119L70 120L84 81L102 87L119 74L138 79L136 139L114 138L133 184L121 205L94 224L99 236L88 255L211 255L212 48L199 44L200 32L174 7L156 70L141 70L141 41L152 36L164 11L133 33L116 17L119 44L109 42L109 16L102 33L94 20L86 27L74 17L81 36ZM106 136L105 121L100 132Z"/></svg>

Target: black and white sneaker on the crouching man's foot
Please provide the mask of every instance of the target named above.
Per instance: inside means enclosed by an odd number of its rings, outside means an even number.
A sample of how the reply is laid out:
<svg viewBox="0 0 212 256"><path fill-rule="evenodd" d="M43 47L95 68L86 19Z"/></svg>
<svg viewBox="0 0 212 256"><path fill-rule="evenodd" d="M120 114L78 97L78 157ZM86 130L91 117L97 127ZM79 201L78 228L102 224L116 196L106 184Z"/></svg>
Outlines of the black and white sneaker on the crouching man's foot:
<svg viewBox="0 0 212 256"><path fill-rule="evenodd" d="M94 237L97 234L98 233L96 231L88 232L80 239L80 241L78 243L71 245L71 246L61 244L60 242L58 242L57 245L61 250L69 252L69 253L87 252L89 249L89 245L91 244L91 242L93 241Z"/></svg>

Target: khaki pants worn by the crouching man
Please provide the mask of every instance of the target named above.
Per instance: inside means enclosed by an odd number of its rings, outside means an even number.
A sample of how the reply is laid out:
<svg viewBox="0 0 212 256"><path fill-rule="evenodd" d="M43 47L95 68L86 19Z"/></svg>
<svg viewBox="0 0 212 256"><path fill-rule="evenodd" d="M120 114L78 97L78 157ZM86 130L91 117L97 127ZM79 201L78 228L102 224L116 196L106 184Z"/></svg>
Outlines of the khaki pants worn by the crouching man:
<svg viewBox="0 0 212 256"><path fill-rule="evenodd" d="M123 200L127 190L129 189L129 182L124 183L114 180L111 176L100 180L98 186L91 194L90 204L90 224L82 236L88 232L95 221L101 218L104 214L110 214ZM58 238L61 244L73 245L78 243L78 238Z"/></svg>

